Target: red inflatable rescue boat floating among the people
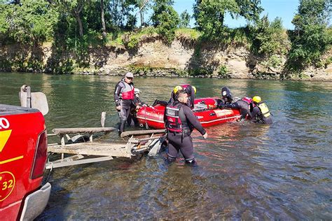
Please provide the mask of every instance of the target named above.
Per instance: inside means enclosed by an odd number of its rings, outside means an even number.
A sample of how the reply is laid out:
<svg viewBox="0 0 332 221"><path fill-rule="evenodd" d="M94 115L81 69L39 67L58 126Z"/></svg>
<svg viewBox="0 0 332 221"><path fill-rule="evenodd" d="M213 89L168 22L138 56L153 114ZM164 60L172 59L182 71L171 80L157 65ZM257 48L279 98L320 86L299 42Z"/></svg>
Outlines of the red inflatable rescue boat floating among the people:
<svg viewBox="0 0 332 221"><path fill-rule="evenodd" d="M193 113L196 115L203 127L210 127L216 124L231 122L240 119L238 109L216 108L217 97L207 97L195 99ZM165 106L157 104L155 106L144 106L137 112L137 120L141 125L148 125L155 129L164 129Z"/></svg>

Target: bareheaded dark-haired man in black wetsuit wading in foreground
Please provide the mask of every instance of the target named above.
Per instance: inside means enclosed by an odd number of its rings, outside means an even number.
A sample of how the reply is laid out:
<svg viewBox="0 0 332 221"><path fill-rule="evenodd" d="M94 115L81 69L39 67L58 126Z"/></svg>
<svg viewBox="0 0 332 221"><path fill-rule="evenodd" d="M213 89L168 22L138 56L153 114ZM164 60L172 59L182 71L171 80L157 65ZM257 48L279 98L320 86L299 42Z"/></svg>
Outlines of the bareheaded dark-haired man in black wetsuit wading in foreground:
<svg viewBox="0 0 332 221"><path fill-rule="evenodd" d="M195 117L191 108L186 106L188 94L184 90L179 90L174 99L175 101L166 106L164 115L168 140L167 162L174 162L179 151L181 151L186 163L194 165L195 157L193 156L191 132L195 128L200 131L204 138L207 138L207 132Z"/></svg>

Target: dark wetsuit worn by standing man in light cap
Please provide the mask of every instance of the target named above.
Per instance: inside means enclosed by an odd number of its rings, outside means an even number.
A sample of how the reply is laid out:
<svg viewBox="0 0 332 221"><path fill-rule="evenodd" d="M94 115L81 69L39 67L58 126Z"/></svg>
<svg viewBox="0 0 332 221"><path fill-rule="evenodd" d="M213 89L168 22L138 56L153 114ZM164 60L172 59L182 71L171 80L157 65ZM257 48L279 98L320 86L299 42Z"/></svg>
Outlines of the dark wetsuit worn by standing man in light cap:
<svg viewBox="0 0 332 221"><path fill-rule="evenodd" d="M123 92L128 92L132 90L132 94L134 93L134 84L133 83L126 83L124 79L120 80L116 85L116 89L114 90L114 101L116 102L116 106L121 106L121 110L118 111L120 117L120 124L118 127L119 132L123 132L125 129L125 122L127 121L128 124L131 124L131 119L128 120L128 116L130 114L130 107L133 105L133 99L123 99L122 94Z"/></svg>

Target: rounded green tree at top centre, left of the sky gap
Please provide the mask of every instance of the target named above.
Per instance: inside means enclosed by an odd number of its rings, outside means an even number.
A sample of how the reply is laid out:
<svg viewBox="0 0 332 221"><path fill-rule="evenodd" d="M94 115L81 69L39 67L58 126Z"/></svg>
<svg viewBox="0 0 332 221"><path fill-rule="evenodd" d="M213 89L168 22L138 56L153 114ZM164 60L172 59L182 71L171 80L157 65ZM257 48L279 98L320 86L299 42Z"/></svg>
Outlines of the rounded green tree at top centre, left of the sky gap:
<svg viewBox="0 0 332 221"><path fill-rule="evenodd" d="M158 34L171 43L175 38L175 29L180 23L179 14L172 7L172 0L155 0L153 4L153 25Z"/></svg>

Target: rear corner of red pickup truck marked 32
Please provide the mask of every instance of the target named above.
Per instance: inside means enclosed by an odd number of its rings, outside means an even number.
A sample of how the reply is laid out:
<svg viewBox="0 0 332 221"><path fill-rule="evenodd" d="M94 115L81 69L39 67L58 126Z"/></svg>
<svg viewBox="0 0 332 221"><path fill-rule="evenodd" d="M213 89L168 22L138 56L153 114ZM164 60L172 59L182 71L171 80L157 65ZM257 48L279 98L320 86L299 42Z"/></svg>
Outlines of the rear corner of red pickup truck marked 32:
<svg viewBox="0 0 332 221"><path fill-rule="evenodd" d="M47 159L42 113L0 104L0 220L33 220L50 197L41 186Z"/></svg>

